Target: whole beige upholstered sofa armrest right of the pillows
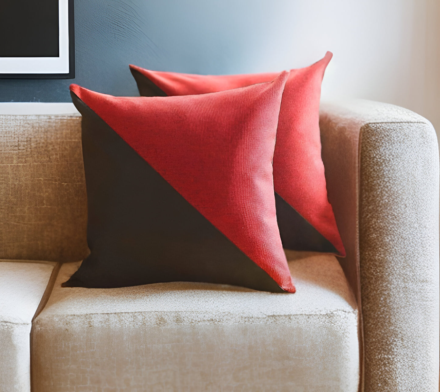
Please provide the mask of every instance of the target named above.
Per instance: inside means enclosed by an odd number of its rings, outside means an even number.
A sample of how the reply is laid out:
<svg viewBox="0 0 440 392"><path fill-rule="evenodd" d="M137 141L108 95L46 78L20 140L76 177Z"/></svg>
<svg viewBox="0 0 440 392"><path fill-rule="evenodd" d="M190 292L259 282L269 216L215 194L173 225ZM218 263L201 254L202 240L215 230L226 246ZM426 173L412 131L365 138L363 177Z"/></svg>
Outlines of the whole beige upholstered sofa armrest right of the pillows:
<svg viewBox="0 0 440 392"><path fill-rule="evenodd" d="M435 131L410 110L365 100L324 104L319 123L340 262L362 309L365 391L438 391Z"/></svg>

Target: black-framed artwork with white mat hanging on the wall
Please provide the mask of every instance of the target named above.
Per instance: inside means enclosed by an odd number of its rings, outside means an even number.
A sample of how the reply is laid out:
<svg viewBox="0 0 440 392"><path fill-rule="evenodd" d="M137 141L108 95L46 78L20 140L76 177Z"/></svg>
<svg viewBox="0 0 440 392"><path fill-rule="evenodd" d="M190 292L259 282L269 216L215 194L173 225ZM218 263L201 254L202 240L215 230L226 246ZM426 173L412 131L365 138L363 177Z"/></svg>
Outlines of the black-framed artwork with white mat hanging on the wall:
<svg viewBox="0 0 440 392"><path fill-rule="evenodd" d="M0 78L73 79L73 0L0 0Z"/></svg>

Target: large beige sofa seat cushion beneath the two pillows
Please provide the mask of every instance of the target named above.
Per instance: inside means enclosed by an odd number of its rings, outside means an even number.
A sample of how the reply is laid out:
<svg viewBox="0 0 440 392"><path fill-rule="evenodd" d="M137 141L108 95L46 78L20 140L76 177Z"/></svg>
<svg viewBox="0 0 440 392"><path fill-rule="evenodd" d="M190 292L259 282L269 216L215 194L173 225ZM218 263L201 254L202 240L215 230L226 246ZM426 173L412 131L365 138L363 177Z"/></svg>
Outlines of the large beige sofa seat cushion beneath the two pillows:
<svg viewBox="0 0 440 392"><path fill-rule="evenodd" d="M336 257L287 252L297 293L171 282L62 288L32 330L51 391L357 391L358 312Z"/></svg>

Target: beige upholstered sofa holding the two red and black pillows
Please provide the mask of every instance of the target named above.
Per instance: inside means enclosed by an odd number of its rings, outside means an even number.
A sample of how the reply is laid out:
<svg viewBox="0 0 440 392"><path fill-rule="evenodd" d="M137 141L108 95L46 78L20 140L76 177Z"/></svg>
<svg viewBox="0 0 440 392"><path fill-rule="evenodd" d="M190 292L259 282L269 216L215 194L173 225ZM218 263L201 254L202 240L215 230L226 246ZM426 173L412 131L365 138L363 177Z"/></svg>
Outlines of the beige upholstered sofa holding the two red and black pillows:
<svg viewBox="0 0 440 392"><path fill-rule="evenodd" d="M81 117L0 104L0 391L437 391L434 129L363 100L320 126L347 257L287 252L297 293L62 288L88 253Z"/></svg>

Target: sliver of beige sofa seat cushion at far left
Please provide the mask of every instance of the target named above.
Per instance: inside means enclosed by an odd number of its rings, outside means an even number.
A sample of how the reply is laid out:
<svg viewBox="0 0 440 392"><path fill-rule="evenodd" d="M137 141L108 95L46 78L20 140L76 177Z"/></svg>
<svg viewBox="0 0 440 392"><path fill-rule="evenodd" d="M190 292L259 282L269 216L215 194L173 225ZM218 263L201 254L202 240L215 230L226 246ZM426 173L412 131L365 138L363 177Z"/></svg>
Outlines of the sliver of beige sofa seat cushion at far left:
<svg viewBox="0 0 440 392"><path fill-rule="evenodd" d="M30 391L31 322L55 264L0 260L0 391Z"/></svg>

